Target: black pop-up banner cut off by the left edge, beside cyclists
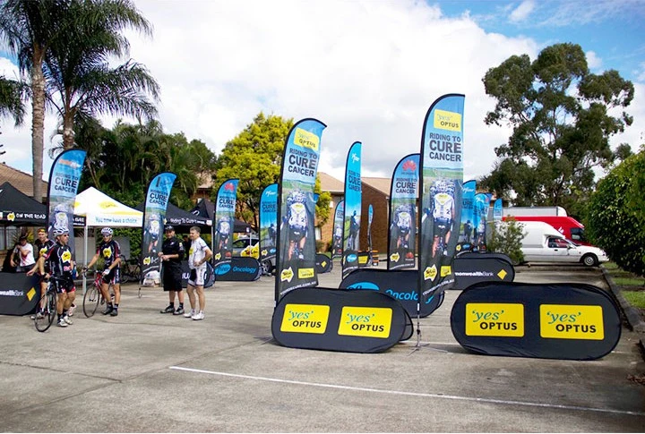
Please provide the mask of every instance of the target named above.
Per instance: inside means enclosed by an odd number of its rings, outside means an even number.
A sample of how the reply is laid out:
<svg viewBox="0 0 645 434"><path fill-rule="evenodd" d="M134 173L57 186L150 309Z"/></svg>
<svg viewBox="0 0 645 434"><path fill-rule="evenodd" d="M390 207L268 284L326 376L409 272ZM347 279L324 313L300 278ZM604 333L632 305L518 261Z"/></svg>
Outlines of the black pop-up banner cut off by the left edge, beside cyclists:
<svg viewBox="0 0 645 434"><path fill-rule="evenodd" d="M39 277L0 273L0 315L25 315L40 300Z"/></svg>

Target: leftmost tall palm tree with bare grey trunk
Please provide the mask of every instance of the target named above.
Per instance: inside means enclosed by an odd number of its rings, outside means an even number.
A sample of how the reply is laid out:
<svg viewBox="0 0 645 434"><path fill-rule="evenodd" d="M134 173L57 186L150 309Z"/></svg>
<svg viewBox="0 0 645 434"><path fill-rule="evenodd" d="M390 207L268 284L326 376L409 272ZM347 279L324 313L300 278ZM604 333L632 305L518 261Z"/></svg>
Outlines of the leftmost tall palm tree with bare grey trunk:
<svg viewBox="0 0 645 434"><path fill-rule="evenodd" d="M0 38L18 55L21 73L30 76L31 153L33 156L33 197L41 200L43 134L45 125L45 78L42 64L52 41L56 40L64 0L4 0L0 4Z"/></svg>

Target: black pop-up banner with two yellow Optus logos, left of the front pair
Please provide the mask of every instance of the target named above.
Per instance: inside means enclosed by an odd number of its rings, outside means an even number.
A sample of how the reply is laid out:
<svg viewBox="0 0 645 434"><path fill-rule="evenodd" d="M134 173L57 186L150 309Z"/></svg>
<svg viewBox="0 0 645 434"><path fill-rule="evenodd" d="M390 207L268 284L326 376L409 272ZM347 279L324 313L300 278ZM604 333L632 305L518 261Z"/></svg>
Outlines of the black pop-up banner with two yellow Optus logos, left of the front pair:
<svg viewBox="0 0 645 434"><path fill-rule="evenodd" d="M299 288L280 299L271 319L280 345L348 353L381 353L411 329L400 302L375 291Z"/></svg>

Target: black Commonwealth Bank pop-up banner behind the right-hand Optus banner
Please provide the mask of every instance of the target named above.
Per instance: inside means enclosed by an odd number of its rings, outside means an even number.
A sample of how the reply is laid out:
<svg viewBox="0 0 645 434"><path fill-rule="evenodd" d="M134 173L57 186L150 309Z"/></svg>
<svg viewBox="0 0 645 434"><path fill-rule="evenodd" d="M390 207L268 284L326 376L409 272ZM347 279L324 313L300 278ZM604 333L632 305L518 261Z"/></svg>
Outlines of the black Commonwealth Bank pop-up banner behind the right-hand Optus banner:
<svg viewBox="0 0 645 434"><path fill-rule="evenodd" d="M468 253L452 262L455 285L452 289L466 289L480 282L512 282L515 268L510 260L495 253Z"/></svg>

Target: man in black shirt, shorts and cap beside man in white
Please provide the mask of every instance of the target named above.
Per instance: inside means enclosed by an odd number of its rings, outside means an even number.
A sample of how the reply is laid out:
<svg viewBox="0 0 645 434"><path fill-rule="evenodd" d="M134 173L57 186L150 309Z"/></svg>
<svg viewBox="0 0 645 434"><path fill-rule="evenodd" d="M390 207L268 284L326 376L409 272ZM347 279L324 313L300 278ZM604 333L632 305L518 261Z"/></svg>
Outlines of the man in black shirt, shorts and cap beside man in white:
<svg viewBox="0 0 645 434"><path fill-rule="evenodd" d="M161 245L159 259L163 266L164 291L168 291L168 307L161 313L181 315L184 313L184 293L181 285L181 260L184 259L184 244L175 236L175 228L166 226L166 240ZM179 307L175 310L175 294Z"/></svg>

